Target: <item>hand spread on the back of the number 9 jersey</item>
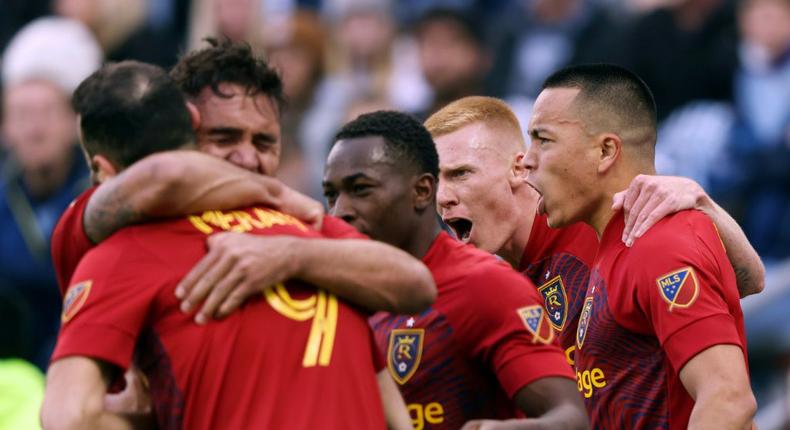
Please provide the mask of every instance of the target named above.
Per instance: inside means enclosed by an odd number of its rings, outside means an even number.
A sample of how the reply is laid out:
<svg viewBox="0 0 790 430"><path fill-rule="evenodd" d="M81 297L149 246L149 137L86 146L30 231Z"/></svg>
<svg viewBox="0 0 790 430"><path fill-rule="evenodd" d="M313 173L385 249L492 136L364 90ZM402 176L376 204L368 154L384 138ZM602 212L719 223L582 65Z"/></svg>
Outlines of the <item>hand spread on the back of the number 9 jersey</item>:
<svg viewBox="0 0 790 430"><path fill-rule="evenodd" d="M206 240L208 253L181 280L176 297L181 310L203 302L195 322L227 316L254 294L291 278L295 260L289 251L298 238L218 233Z"/></svg>

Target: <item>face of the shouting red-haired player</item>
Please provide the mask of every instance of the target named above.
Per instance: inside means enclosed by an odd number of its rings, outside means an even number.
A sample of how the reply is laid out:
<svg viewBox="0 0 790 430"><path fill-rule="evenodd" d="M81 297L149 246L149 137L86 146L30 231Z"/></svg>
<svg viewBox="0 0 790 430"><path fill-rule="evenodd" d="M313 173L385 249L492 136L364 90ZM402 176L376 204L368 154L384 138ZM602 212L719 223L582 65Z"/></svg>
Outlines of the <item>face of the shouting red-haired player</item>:
<svg viewBox="0 0 790 430"><path fill-rule="evenodd" d="M435 139L439 152L439 215L464 242L495 253L513 235L518 221L510 186L511 163L497 145L507 139L482 123Z"/></svg>

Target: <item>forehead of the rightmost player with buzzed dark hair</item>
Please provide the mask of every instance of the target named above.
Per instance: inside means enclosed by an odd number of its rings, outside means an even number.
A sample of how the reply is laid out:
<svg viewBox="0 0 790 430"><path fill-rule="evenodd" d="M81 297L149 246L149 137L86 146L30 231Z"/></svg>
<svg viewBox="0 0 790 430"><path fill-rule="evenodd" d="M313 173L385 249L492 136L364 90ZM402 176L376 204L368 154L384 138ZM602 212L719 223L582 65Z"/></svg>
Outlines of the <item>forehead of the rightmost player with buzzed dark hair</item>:
<svg viewBox="0 0 790 430"><path fill-rule="evenodd" d="M581 125L574 113L574 101L578 88L547 88L538 95L529 120L529 131L554 131L565 125Z"/></svg>

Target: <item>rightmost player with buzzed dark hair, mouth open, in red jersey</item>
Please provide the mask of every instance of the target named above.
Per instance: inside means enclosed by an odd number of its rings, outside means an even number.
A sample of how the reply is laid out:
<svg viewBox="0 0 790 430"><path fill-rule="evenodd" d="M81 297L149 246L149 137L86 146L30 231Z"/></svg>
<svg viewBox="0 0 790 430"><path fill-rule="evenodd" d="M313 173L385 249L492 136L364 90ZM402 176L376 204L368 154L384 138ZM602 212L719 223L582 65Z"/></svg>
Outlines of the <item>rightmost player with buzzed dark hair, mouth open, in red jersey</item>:
<svg viewBox="0 0 790 430"><path fill-rule="evenodd" d="M610 65L550 76L525 166L552 227L600 238L576 337L595 428L748 428L756 405L735 274L711 220L681 211L632 247L615 193L652 175L656 112L634 74Z"/></svg>

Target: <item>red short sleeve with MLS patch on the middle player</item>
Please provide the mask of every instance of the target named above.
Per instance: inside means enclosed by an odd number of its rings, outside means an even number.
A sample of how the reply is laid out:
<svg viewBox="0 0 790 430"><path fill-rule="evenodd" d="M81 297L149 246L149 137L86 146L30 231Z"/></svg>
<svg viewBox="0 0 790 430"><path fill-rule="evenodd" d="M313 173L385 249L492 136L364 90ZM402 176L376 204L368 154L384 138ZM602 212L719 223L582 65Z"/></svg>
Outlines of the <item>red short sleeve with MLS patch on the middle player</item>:
<svg viewBox="0 0 790 430"><path fill-rule="evenodd" d="M475 270L467 281L454 306L474 311L462 311L453 325L508 396L540 378L574 378L530 281L498 263Z"/></svg>

